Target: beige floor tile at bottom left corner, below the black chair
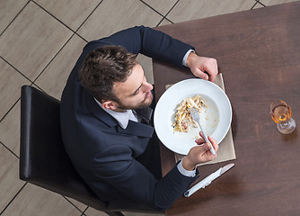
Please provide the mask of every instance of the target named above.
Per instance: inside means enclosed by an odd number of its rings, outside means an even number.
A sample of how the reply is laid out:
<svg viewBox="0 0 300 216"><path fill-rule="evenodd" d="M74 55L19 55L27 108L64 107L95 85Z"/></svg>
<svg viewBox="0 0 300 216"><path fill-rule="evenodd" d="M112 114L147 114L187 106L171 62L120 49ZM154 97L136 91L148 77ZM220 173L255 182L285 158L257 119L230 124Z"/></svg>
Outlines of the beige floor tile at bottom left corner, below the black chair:
<svg viewBox="0 0 300 216"><path fill-rule="evenodd" d="M32 184L26 184L2 216L11 215L80 216L81 212L63 196Z"/></svg>

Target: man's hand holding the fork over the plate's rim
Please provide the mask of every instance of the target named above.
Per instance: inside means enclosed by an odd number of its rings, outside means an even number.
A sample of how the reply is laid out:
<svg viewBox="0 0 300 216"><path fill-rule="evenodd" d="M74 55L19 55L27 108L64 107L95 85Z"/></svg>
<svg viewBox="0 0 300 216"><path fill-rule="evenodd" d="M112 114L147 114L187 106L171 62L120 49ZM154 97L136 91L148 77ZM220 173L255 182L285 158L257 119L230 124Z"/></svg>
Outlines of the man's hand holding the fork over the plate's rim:
<svg viewBox="0 0 300 216"><path fill-rule="evenodd" d="M216 155L213 155L210 152L210 144L205 142L201 132L200 136L201 138L196 139L195 141L198 145L203 145L190 148L189 154L182 159L182 166L186 170L193 170L198 164L205 163L216 158ZM217 152L219 146L217 145L216 140L209 136L208 139Z"/></svg>

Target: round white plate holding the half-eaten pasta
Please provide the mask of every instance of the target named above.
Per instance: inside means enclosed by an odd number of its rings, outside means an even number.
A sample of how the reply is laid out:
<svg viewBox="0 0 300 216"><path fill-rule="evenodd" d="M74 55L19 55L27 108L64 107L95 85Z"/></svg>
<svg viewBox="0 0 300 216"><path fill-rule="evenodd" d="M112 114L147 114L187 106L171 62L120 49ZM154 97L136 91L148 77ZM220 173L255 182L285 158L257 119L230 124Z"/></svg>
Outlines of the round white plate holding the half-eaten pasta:
<svg viewBox="0 0 300 216"><path fill-rule="evenodd" d="M216 84L203 79L192 78L172 85L166 90L154 111L154 128L166 148L187 155L196 146L199 128L190 126L189 132L173 131L176 107L189 96L200 94L207 104L200 112L200 124L208 136L220 143L230 128L232 108L225 92Z"/></svg>

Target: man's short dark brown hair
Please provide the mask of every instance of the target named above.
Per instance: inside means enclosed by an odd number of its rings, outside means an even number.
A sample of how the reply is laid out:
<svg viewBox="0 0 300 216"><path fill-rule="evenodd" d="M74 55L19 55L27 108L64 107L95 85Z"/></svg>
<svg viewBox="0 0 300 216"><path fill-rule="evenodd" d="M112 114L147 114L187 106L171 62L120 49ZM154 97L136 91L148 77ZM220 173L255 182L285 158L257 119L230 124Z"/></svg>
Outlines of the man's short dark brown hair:
<svg viewBox="0 0 300 216"><path fill-rule="evenodd" d="M84 88L99 102L119 102L113 92L115 82L125 82L137 65L137 55L118 46L106 46L91 51L84 59L79 77Z"/></svg>

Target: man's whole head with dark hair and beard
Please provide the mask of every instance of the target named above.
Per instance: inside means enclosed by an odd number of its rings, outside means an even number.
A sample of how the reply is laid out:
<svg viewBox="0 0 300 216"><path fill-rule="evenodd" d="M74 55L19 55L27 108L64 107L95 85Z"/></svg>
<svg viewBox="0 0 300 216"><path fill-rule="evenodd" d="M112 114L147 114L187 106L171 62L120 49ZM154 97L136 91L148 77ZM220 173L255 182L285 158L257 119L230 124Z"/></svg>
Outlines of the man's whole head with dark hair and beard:
<svg viewBox="0 0 300 216"><path fill-rule="evenodd" d="M150 105L153 86L146 82L136 55L117 46L93 50L79 71L81 83L106 109L122 112Z"/></svg>

